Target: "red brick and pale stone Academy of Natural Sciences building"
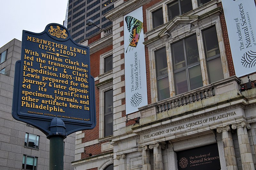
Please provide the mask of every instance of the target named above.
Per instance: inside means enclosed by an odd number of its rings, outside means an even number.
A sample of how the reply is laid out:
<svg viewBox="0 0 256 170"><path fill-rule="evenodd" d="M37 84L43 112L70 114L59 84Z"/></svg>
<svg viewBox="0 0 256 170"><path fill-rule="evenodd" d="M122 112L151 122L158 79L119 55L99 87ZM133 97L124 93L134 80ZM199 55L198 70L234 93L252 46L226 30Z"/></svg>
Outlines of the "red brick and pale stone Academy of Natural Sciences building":
<svg viewBox="0 0 256 170"><path fill-rule="evenodd" d="M125 19L137 10L143 20ZM221 0L115 0L104 15L110 34L81 34L97 126L76 132L75 169L255 169L256 72L236 76ZM129 114L125 57L139 47L127 30L144 41L147 86Z"/></svg>

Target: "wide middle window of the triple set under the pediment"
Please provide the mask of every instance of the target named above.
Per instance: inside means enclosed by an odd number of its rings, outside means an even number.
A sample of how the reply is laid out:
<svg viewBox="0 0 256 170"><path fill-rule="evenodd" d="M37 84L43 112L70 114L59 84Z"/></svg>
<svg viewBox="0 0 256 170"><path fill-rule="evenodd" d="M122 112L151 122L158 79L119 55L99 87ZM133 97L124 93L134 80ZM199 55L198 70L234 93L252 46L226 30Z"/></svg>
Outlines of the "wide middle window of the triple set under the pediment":
<svg viewBox="0 0 256 170"><path fill-rule="evenodd" d="M203 86L196 35L172 44L176 94Z"/></svg>

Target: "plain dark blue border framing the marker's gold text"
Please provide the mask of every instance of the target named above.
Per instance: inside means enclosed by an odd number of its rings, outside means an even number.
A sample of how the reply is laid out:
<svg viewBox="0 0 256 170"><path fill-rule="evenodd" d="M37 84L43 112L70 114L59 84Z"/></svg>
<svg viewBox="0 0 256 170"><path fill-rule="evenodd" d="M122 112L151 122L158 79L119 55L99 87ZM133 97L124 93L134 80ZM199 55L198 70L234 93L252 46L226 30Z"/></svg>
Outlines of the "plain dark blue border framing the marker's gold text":
<svg viewBox="0 0 256 170"><path fill-rule="evenodd" d="M65 31L63 31L63 33L66 38L64 37L64 39L60 39L60 37L58 38L58 37L51 36L48 33L48 32L50 32L50 29L48 30L48 28L52 25L57 26L57 28L59 27L60 28L59 30L64 28L63 30L65 30ZM83 48L84 50L86 50L87 54L85 55L85 60L88 61L88 63L86 63L86 64L88 65L88 68L87 68L88 81L89 81L89 84L88 84L89 85L89 88L88 88L89 94L88 95L89 95L89 103L90 103L89 104L90 110L87 111L86 113L88 115L88 112L89 112L90 121L77 120L77 119L66 119L66 118L61 118L61 117L59 119L61 119L64 122L63 126L66 130L64 136L68 136L69 134L74 133L79 130L93 129L96 126L96 104L95 104L94 78L91 76L91 72L90 72L90 54L89 54L90 50L89 50L89 47L82 46L80 44L77 44L75 41L73 41L68 29L65 28L64 26L61 26L56 23L51 23L45 27L45 30L42 33L33 33L33 32L23 30L21 58L24 57L24 55L25 55L25 48L29 49L29 47L25 47L25 44L26 44L25 41L27 41L28 34L35 35L37 37L38 36L42 36L44 38L47 37L47 41L52 41L52 42L59 43L59 44L65 44L65 41L67 41L67 43L69 43L69 44L66 44L66 45L70 46L70 44L71 44L76 47L79 46L79 47ZM44 39L44 38L42 38L42 39ZM33 42L33 43L35 43L35 42ZM88 58L86 58L86 57L88 57ZM21 61L22 60L17 61L16 66L15 66L12 116L16 120L19 120L21 122L26 122L28 124L35 126L36 128L40 129L45 135L49 135L49 134L51 135L51 130L50 130L51 122L56 117L39 115L39 114L29 114L27 112L24 112L24 110L26 110L26 108L24 109L24 107L22 107L22 109L21 109L21 91L22 91L22 88L24 89L24 87L22 87L23 63L21 63ZM50 76L47 76L47 77L50 77ZM75 112L77 109L71 108L71 107L69 107L68 109L73 109L74 112L72 112L72 113L76 114ZM21 110L23 110L23 111L21 111ZM65 115L65 116L68 116L68 115Z"/></svg>

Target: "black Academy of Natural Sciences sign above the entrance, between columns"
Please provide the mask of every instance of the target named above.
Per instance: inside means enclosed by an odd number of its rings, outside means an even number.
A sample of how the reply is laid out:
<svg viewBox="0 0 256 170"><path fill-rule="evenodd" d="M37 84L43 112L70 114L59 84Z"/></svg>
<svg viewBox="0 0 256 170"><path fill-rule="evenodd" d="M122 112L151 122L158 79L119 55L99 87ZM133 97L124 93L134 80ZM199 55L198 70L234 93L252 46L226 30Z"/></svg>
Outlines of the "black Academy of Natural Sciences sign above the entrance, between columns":
<svg viewBox="0 0 256 170"><path fill-rule="evenodd" d="M177 159L181 170L221 169L217 143L177 152Z"/></svg>

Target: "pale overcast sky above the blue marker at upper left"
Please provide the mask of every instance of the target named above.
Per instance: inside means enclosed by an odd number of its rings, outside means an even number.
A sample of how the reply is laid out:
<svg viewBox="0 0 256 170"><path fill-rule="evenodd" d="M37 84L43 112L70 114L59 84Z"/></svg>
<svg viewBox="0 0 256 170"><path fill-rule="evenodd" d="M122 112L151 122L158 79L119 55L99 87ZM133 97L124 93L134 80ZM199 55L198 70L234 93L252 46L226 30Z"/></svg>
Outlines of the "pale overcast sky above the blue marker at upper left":
<svg viewBox="0 0 256 170"><path fill-rule="evenodd" d="M63 24L68 0L0 0L0 47L22 30L41 33L50 23Z"/></svg>

